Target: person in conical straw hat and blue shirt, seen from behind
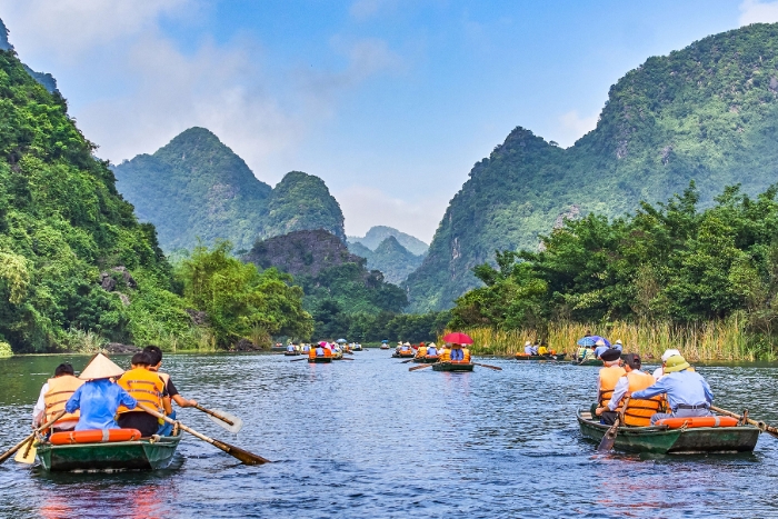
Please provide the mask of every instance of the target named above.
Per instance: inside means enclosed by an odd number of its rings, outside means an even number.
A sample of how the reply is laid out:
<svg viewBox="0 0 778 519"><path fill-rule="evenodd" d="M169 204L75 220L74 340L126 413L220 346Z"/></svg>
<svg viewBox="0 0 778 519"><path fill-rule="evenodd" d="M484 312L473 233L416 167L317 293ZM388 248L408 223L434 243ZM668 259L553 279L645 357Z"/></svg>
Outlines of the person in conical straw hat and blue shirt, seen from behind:
<svg viewBox="0 0 778 519"><path fill-rule="evenodd" d="M121 377L123 369L102 353L94 356L79 378L86 382L64 405L69 413L80 411L77 431L91 429L119 429L113 420L119 406L133 409L138 401L112 379Z"/></svg>

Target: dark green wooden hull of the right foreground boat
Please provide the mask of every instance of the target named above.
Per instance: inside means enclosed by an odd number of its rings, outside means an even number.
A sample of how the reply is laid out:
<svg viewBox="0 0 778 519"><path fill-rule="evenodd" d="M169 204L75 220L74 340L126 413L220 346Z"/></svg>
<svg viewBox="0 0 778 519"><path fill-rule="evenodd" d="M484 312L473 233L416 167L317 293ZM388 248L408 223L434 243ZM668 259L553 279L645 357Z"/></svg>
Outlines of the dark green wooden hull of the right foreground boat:
<svg viewBox="0 0 778 519"><path fill-rule="evenodd" d="M610 426L592 419L591 412L578 410L581 435L599 443ZM630 452L660 455L697 455L704 452L751 452L759 429L754 426L696 427L669 429L662 427L620 427L614 447Z"/></svg>

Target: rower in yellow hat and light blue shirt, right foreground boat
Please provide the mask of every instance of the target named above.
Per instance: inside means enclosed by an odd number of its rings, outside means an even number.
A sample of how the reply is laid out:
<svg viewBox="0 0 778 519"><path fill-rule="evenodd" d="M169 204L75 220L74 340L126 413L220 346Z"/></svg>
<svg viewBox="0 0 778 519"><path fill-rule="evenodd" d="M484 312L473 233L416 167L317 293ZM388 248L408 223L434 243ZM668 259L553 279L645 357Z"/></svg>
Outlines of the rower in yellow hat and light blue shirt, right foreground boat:
<svg viewBox="0 0 778 519"><path fill-rule="evenodd" d="M651 425L662 418L709 417L714 393L701 375L690 369L689 362L679 355L674 355L665 362L665 376L654 386L636 391L632 398L648 399L667 395L670 412L657 412L651 416ZM629 395L628 395L629 396Z"/></svg>

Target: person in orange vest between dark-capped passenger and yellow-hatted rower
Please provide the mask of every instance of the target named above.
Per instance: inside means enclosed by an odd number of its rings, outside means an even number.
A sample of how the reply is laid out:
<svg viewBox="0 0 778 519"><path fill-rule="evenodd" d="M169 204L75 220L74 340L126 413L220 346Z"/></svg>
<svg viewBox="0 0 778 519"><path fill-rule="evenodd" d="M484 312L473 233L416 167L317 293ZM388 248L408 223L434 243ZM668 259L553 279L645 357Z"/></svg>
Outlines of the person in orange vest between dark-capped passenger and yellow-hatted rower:
<svg viewBox="0 0 778 519"><path fill-rule="evenodd" d="M637 353L627 353L621 357L624 368L627 375L621 377L614 388L614 395L608 403L609 411L616 411L621 407L621 400L625 396L635 391L641 391L650 386L654 386L656 380L654 377L640 371L640 356ZM661 407L661 397L652 397L649 399L630 398L624 408L624 425L632 427L648 427L651 425L651 417L659 412ZM606 408L600 408L598 411L604 411Z"/></svg>

